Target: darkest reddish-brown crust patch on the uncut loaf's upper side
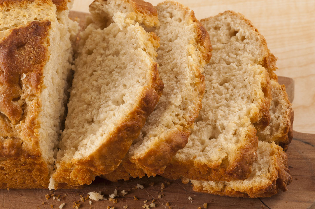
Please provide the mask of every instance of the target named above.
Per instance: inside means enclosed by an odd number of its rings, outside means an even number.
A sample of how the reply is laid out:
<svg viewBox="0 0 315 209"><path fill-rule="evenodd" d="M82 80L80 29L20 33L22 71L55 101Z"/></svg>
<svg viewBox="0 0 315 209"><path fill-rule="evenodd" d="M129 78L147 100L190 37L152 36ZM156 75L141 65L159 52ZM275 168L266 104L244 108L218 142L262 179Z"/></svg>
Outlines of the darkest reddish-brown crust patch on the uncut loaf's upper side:
<svg viewBox="0 0 315 209"><path fill-rule="evenodd" d="M48 53L42 44L50 24L48 20L31 22L26 27L13 29L0 42L0 110L12 124L17 124L22 117L22 85L26 85L31 94L40 91ZM26 77L21 81L23 74Z"/></svg>

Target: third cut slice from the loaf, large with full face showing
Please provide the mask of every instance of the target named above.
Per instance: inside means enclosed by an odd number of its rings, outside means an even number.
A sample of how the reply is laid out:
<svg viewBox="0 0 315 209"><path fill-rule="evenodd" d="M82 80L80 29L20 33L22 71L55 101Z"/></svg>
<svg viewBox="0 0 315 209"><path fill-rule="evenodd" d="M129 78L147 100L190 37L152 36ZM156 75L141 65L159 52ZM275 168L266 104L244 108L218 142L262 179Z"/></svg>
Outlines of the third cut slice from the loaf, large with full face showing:
<svg viewBox="0 0 315 209"><path fill-rule="evenodd" d="M204 70L203 109L185 148L163 176L195 180L246 179L257 159L257 127L270 121L271 85L264 67L272 56L265 39L243 15L226 11L201 20L213 56Z"/></svg>

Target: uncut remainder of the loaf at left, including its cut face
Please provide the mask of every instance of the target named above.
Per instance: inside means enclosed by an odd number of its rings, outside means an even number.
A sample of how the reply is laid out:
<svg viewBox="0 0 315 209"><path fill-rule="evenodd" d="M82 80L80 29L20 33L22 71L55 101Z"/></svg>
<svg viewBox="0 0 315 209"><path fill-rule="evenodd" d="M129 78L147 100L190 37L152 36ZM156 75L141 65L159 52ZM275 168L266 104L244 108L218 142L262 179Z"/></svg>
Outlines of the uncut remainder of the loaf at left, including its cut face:
<svg viewBox="0 0 315 209"><path fill-rule="evenodd" d="M77 24L71 2L0 1L0 188L47 188Z"/></svg>

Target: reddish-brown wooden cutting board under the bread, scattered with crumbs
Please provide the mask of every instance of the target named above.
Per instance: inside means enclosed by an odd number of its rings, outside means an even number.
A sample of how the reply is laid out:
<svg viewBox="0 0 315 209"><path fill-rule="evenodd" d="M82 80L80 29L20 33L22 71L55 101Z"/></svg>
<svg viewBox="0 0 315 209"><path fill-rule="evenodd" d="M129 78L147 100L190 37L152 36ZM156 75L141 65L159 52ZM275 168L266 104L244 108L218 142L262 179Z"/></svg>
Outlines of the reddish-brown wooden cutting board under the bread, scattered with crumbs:
<svg viewBox="0 0 315 209"><path fill-rule="evenodd" d="M80 24L84 24L85 13L72 12L71 17L79 17ZM290 78L279 77L279 83L285 84L289 95L289 100L292 102L294 98L294 81ZM0 190L0 208L14 209L48 209L59 208L61 203L66 203L63 207L73 208L74 202L80 204L79 208L107 208L107 206L124 208L128 205L128 209L141 209L143 206L150 205L154 201L155 208L205 208L204 203L207 203L207 208L314 208L315 209L315 134L304 134L294 132L294 137L286 151L289 157L289 168L293 178L292 183L288 186L286 192L279 192L269 198L231 198L217 195L209 195L192 191L191 184L182 184L180 180L172 181L163 177L144 177L142 179L131 179L129 181L119 181L113 183L105 179L97 178L92 184L83 187L80 190L60 189L50 191L48 189L10 189ZM152 182L154 185L152 185ZM168 184L169 182L169 184ZM161 191L161 184L165 185ZM144 186L143 189L136 189L137 184ZM81 201L81 195L87 196L88 192L101 191L105 198L112 194L114 190L118 191L117 203L109 200L92 201L89 205L89 200ZM121 191L128 191L127 195L122 197ZM58 198L46 196L59 196ZM161 198L159 198L161 195ZM49 197L47 196L47 197ZM134 196L138 200L134 200ZM188 198L191 197L192 200ZM146 202L145 202L146 201ZM169 206L167 206L169 203Z"/></svg>

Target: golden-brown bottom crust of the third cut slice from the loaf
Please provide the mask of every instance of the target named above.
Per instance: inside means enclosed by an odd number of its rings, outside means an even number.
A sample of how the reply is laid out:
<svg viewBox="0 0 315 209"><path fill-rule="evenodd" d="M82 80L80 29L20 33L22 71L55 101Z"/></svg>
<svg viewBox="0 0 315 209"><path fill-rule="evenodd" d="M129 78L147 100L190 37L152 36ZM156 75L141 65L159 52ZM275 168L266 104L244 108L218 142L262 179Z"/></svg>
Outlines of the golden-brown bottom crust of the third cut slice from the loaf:
<svg viewBox="0 0 315 209"><path fill-rule="evenodd" d="M246 179L251 171L252 163L257 159L256 149L258 137L256 129L249 127L243 145L239 148L234 163L226 167L223 162L210 168L207 164L176 160L175 158L166 166L161 176L168 179L180 179L186 177L193 180L231 181L233 179Z"/></svg>

